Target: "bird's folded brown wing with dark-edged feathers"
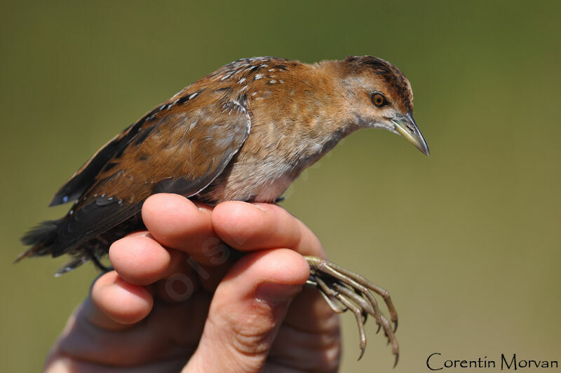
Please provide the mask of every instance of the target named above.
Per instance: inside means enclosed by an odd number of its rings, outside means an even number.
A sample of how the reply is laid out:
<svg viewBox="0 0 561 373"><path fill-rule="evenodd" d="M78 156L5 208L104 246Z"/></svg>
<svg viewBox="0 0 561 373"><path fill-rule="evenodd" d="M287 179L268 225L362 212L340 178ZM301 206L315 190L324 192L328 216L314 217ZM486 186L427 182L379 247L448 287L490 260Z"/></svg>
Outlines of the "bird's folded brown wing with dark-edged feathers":
<svg viewBox="0 0 561 373"><path fill-rule="evenodd" d="M196 195L248 137L244 97L201 97L189 110L176 105L160 106L116 136L61 188L54 204L79 199L58 227L53 255L127 220L156 192Z"/></svg>

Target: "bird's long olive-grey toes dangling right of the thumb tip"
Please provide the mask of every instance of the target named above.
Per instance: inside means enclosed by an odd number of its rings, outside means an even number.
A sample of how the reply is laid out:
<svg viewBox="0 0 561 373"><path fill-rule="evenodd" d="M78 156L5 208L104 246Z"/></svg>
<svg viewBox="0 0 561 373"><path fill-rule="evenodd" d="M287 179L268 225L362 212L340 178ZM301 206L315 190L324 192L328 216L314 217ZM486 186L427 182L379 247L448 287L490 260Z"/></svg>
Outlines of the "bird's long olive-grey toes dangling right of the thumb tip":
<svg viewBox="0 0 561 373"><path fill-rule="evenodd" d="M381 328L384 329L384 333L388 337L388 344L391 344L391 352L396 356L395 364L397 364L399 346L395 332L398 328L398 313L396 308L393 307L389 293L363 276L350 272L329 260L316 256L305 256L304 258L310 266L310 278L306 283L318 288L327 304L337 314L350 309L355 315L360 335L360 356L358 359L360 360L363 357L366 348L364 323L370 314L376 320L378 331ZM388 319L381 314L378 302L370 293L370 290L384 298L390 320L393 322L393 328Z"/></svg>

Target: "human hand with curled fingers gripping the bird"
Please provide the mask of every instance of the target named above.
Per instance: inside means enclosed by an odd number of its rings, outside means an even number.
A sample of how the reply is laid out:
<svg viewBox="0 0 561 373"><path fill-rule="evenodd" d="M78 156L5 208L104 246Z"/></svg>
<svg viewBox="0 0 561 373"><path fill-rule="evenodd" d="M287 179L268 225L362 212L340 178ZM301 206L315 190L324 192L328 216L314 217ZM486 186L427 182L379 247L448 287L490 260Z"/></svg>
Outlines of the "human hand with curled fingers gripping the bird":
<svg viewBox="0 0 561 373"><path fill-rule="evenodd" d="M144 202L147 232L116 241L45 372L334 372L339 318L303 287L325 253L274 204ZM232 248L246 254L230 258Z"/></svg>

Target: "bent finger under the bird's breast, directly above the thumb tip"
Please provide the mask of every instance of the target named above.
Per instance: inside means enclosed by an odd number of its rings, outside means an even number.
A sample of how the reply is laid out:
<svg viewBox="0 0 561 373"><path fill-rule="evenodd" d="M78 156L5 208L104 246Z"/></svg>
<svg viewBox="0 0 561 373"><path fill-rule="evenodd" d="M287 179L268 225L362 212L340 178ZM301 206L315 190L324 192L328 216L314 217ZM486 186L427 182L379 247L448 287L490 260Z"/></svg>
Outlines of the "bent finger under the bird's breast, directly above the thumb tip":
<svg viewBox="0 0 561 373"><path fill-rule="evenodd" d="M223 202L212 211L212 227L222 241L241 251L291 248L302 255L325 256L316 235L276 204Z"/></svg>

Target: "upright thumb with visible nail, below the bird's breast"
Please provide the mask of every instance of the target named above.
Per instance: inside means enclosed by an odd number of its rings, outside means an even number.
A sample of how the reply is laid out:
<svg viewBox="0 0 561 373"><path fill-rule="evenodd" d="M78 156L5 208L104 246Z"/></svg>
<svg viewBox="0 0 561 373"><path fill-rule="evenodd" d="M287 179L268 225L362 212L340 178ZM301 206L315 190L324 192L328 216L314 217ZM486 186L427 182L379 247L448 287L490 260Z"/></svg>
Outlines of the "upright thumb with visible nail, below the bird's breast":
<svg viewBox="0 0 561 373"><path fill-rule="evenodd" d="M295 251L273 249L238 260L212 298L187 372L260 372L288 305L309 277Z"/></svg>

